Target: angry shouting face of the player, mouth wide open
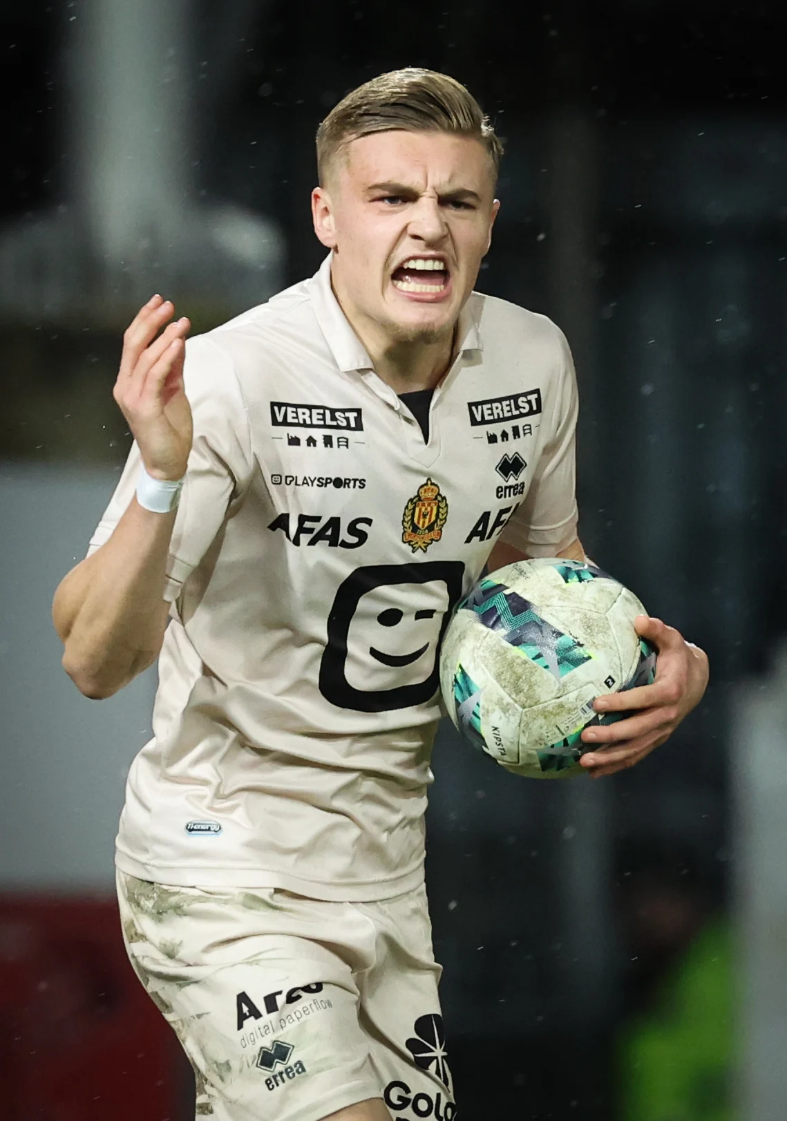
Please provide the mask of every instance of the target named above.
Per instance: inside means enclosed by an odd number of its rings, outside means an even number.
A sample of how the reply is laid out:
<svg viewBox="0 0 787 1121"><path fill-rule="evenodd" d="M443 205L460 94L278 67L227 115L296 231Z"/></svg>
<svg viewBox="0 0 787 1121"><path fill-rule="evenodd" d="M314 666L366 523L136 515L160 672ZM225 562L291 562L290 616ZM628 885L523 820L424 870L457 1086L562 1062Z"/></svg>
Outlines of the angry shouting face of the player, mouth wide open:
<svg viewBox="0 0 787 1121"><path fill-rule="evenodd" d="M360 137L336 157L313 206L351 319L371 321L392 342L453 330L499 206L481 141L448 132Z"/></svg>

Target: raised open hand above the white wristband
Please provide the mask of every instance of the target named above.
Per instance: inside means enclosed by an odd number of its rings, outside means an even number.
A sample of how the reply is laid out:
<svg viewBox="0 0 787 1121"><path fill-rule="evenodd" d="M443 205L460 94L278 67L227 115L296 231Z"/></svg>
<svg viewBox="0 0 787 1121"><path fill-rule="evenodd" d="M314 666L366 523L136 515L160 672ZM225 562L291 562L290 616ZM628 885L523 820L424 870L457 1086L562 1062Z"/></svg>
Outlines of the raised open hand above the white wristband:
<svg viewBox="0 0 787 1121"><path fill-rule="evenodd" d="M192 409L183 388L191 323L185 317L169 323L174 313L160 296L140 309L123 335L113 390L154 479L182 479L192 448Z"/></svg>

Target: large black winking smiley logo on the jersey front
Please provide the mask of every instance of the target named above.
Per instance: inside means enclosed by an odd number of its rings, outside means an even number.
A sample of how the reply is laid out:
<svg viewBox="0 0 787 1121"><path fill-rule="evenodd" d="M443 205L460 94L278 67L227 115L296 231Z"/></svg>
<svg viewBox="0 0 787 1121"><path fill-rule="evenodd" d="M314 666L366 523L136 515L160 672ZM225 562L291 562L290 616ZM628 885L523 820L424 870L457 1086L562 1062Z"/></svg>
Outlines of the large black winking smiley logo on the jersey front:
<svg viewBox="0 0 787 1121"><path fill-rule="evenodd" d="M357 712L389 712L430 701L439 683L437 651L451 612L461 599L463 575L464 564L461 560L370 565L351 573L339 585L328 613L327 642L320 664L320 692L325 700ZM387 597L390 603L391 599L396 601L397 592L399 601L402 604L407 602L406 590L399 585L416 585L413 591L420 592L420 602L430 599L433 603L441 604L439 609L422 606L407 611L400 606L386 606L380 610L380 599L385 603ZM365 596L370 599L361 610ZM374 601L378 604L376 609ZM437 617L442 619L438 630L435 630ZM370 623L376 630L371 642ZM352 657L349 651L351 628L355 636ZM396 636L396 641L386 642L387 632L391 639ZM362 645L359 641L361 634L367 638ZM402 652L392 652L390 647L397 645ZM430 663L425 657L429 650ZM416 667L419 659L424 659L423 666ZM415 667L413 673L419 679L400 684L401 676L394 673L386 677L383 667L394 671Z"/></svg>

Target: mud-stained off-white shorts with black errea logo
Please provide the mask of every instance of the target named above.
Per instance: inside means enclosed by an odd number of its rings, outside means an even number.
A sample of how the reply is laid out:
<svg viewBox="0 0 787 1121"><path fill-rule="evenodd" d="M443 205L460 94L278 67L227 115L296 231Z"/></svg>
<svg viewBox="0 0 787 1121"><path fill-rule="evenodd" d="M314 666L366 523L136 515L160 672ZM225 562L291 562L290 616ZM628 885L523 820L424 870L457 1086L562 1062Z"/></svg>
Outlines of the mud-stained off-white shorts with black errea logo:
<svg viewBox="0 0 787 1121"><path fill-rule="evenodd" d="M382 1097L456 1115L425 889L368 904L118 872L131 964L196 1076L196 1115L320 1121Z"/></svg>

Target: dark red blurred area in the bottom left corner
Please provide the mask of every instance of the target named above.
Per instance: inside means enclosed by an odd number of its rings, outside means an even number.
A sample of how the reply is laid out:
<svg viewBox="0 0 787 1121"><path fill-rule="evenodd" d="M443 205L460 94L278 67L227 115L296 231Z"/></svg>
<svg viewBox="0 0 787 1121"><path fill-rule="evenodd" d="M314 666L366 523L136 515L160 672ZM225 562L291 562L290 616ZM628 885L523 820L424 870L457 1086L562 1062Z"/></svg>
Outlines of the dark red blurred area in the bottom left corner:
<svg viewBox="0 0 787 1121"><path fill-rule="evenodd" d="M0 897L4 1121L180 1121L182 1062L114 900Z"/></svg>

